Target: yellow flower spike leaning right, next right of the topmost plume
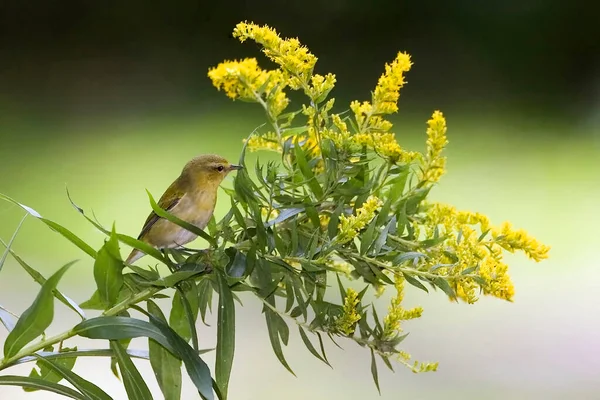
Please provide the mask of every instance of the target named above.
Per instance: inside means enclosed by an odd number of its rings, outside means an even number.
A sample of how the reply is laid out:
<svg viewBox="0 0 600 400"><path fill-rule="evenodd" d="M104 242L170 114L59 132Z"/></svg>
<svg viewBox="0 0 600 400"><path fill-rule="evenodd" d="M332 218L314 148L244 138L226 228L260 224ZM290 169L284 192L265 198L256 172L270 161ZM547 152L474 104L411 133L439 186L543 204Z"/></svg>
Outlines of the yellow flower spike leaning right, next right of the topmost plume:
<svg viewBox="0 0 600 400"><path fill-rule="evenodd" d="M379 78L373 93L375 114L391 114L398 111L400 89L404 86L404 73L410 70L410 55L398 53L391 64L385 64L385 72Z"/></svg>

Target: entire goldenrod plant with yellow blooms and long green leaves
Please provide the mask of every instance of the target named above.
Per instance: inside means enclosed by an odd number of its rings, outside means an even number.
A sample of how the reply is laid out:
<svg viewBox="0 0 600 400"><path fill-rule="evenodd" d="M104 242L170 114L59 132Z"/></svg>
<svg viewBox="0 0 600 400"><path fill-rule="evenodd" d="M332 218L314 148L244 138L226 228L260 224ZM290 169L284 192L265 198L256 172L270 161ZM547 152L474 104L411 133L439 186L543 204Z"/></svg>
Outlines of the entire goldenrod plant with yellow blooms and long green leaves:
<svg viewBox="0 0 600 400"><path fill-rule="evenodd" d="M404 321L424 312L405 304L407 285L439 290L455 302L475 303L482 295L512 301L515 288L504 252L521 251L535 261L548 257L547 246L508 222L495 225L478 212L427 199L446 173L444 115L434 111L427 121L422 153L403 148L386 119L398 111L412 66L408 54L400 52L385 65L370 100L353 101L335 112L338 105L329 98L335 75L315 73L316 56L297 39L283 39L268 26L247 22L239 23L233 35L260 45L273 67L264 69L248 58L225 61L208 72L217 89L233 100L259 104L267 120L243 144L243 168L233 188L225 189L231 208L219 220L213 217L204 232L150 196L157 218L203 237L208 247L161 252L101 226L75 206L108 237L96 250L21 205L26 215L95 260L89 276L98 288L77 305L56 289L70 264L46 279L11 249L12 240L5 243L2 262L12 254L41 290L18 319L0 308L0 320L10 331L0 370L36 363L29 376L2 375L0 384L76 399L109 399L73 370L78 357L102 356L113 360L129 398L146 400L152 398L145 383L150 377L143 378L131 362L138 357L149 359L166 399L181 396L182 365L200 397L226 399L235 350L235 302L243 297L263 305L264 317L257 318L265 318L275 356L290 372L283 348L293 327L308 351L328 365L328 340L364 347L379 389L378 363L390 369L398 363L413 372L438 368L436 362L413 361L405 349ZM291 91L306 96L292 111ZM246 151L276 152L279 161L261 162L257 153L256 164L248 165ZM146 265L158 262L170 273L124 263L119 243L148 255L142 259ZM388 289L391 300L380 316L375 304ZM210 368L202 360L196 323L211 309L213 294L218 296L218 325L216 363ZM156 301L165 297L172 298L168 316ZM46 337L54 298L82 321ZM90 317L84 309L97 311ZM109 345L103 350L69 348L68 340L75 336L108 340ZM148 350L129 349L134 337L147 337Z"/></svg>

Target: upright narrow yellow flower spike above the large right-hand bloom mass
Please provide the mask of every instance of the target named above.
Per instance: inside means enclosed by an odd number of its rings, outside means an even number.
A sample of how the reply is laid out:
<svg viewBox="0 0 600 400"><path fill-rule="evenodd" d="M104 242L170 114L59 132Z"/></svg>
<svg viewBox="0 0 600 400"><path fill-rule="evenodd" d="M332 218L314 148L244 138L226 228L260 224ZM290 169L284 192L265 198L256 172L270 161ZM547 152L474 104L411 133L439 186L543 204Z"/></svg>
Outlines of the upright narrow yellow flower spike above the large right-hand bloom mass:
<svg viewBox="0 0 600 400"><path fill-rule="evenodd" d="M446 138L446 119L444 115L435 111L427 121L427 154L423 181L437 182L446 172L446 157L442 157L442 150L448 144Z"/></svg>

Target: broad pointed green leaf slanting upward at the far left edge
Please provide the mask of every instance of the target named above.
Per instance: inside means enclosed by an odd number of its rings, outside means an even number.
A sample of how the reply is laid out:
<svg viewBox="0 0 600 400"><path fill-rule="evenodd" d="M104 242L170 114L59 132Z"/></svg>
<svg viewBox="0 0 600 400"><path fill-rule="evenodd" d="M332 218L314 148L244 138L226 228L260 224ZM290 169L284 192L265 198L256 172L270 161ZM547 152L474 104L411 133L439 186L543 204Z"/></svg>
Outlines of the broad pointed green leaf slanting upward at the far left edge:
<svg viewBox="0 0 600 400"><path fill-rule="evenodd" d="M15 328L8 334L4 342L4 357L12 357L25 345L40 336L54 319L54 294L60 278L75 262L67 263L56 271L40 289L33 304L23 312Z"/></svg>

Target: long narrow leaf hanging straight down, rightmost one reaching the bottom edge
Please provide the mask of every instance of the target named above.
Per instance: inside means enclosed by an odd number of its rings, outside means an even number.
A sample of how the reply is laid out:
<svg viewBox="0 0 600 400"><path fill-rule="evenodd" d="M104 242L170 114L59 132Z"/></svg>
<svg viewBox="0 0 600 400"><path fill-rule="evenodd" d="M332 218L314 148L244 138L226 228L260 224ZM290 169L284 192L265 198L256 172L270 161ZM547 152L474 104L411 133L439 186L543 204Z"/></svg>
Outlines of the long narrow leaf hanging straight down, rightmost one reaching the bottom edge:
<svg viewBox="0 0 600 400"><path fill-rule="evenodd" d="M216 275L219 284L219 311L217 316L215 379L223 399L227 399L235 352L235 304L227 280L219 272Z"/></svg>

